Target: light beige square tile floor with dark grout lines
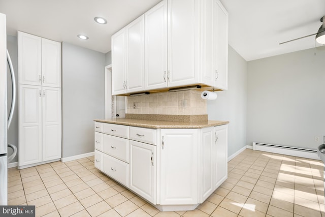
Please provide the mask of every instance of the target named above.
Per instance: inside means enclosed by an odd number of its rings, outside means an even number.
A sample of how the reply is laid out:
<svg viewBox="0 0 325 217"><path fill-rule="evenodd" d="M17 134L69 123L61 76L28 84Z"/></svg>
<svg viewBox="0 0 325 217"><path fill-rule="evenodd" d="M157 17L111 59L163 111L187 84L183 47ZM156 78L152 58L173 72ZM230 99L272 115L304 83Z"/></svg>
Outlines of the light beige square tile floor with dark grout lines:
<svg viewBox="0 0 325 217"><path fill-rule="evenodd" d="M36 216L325 217L321 161L246 149L197 209L160 212L94 168L93 160L9 169L9 205L36 205Z"/></svg>

